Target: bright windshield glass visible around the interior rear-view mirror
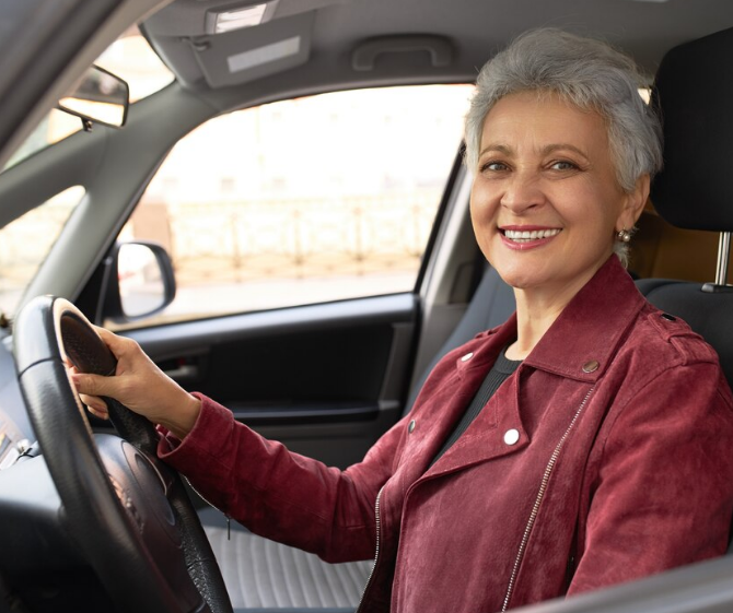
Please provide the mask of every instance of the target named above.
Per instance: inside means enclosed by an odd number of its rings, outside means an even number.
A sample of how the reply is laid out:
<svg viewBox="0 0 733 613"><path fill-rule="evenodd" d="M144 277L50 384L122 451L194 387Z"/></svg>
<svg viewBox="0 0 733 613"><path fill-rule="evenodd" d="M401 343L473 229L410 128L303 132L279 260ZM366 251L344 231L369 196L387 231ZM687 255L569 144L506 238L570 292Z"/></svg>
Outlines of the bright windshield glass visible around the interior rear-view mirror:
<svg viewBox="0 0 733 613"><path fill-rule="evenodd" d="M127 81L130 87L130 103L162 90L173 81L173 73L153 51L137 26L127 30L94 63ZM51 109L3 169L19 164L81 129L82 122L78 117Z"/></svg>

